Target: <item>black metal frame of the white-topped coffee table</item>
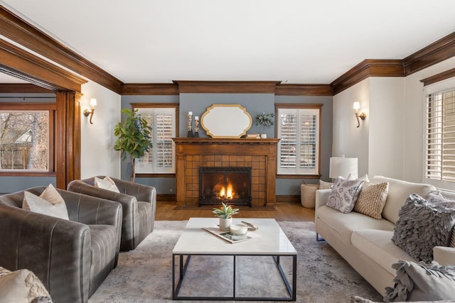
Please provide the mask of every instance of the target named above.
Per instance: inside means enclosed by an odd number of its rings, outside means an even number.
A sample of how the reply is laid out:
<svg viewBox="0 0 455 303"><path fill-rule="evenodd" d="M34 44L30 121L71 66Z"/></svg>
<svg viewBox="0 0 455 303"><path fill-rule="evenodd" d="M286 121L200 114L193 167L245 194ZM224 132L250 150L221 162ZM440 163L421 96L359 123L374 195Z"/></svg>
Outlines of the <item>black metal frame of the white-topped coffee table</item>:
<svg viewBox="0 0 455 303"><path fill-rule="evenodd" d="M287 292L289 293L289 297L237 297L236 289L235 289L235 278L236 278L236 259L237 256L252 256L250 254L223 254L223 255L232 255L234 258L234 270L232 274L232 297L182 297L178 295L180 292L180 288L183 282L183 278L185 277L186 269L188 268L188 264L190 263L191 256L196 254L180 254L180 253L173 253L172 254L172 299L173 300L212 300L212 301L296 301L296 285L297 285L297 255L257 255L257 256L270 256L274 258L275 265L277 265L277 269L279 270L279 274L282 277L284 285L286 285ZM199 255L199 254L198 254ZM220 255L220 254L200 254L200 255ZM186 260L184 261L183 257L186 256ZM254 256L254 255L253 255ZM292 286L289 284L289 281L286 277L282 269L282 265L280 263L280 257L288 257L292 258ZM176 258L178 258L178 282L176 284Z"/></svg>

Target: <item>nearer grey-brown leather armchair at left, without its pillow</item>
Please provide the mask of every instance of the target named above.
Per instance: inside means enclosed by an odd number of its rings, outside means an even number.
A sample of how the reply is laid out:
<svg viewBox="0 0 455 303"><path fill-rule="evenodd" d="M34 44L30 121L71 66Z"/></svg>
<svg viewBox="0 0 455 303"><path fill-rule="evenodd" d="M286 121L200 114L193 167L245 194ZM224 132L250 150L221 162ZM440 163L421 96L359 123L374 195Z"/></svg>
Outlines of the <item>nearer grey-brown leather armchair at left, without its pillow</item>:
<svg viewBox="0 0 455 303"><path fill-rule="evenodd" d="M22 209L23 191L0 196L0 266L31 270L53 302L87 302L117 266L122 206L57 190L70 221Z"/></svg>

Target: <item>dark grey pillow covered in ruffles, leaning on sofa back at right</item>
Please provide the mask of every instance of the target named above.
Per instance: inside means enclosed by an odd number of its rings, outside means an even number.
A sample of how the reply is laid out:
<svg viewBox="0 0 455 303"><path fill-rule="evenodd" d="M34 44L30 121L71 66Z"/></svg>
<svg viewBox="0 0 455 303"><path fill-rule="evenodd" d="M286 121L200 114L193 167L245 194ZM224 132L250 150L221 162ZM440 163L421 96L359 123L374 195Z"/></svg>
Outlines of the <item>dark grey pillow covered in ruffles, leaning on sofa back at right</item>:
<svg viewBox="0 0 455 303"><path fill-rule="evenodd" d="M429 263L433 260L434 246L449 246L455 209L410 194L398 216L392 241L412 258Z"/></svg>

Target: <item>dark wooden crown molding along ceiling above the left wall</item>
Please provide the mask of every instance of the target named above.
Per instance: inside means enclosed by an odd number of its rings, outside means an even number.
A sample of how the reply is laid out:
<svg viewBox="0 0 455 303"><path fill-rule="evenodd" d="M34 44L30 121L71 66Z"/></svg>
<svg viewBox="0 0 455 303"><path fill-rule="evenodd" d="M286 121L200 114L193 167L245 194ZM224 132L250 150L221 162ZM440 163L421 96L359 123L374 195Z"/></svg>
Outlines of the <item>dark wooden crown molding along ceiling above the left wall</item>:
<svg viewBox="0 0 455 303"><path fill-rule="evenodd" d="M73 22L68 20L68 22ZM102 70L97 65L78 55L73 50L43 33L38 28L0 6L0 34L54 62L67 67L79 75L92 79L104 87L122 93L119 79ZM0 60L0 62L9 62Z"/></svg>

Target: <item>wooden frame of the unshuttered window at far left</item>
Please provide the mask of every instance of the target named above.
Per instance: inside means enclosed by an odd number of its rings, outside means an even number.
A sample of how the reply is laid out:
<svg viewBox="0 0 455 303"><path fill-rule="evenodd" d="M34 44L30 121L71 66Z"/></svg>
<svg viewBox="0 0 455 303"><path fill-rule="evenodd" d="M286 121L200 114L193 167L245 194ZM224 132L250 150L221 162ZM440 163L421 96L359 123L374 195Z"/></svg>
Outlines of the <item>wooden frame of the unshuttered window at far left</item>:
<svg viewBox="0 0 455 303"><path fill-rule="evenodd" d="M49 113L48 170L0 170L0 176L55 176L55 117L57 105L50 102L0 102L0 111L48 111Z"/></svg>

